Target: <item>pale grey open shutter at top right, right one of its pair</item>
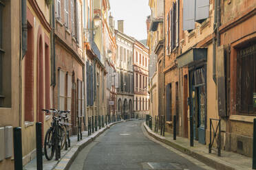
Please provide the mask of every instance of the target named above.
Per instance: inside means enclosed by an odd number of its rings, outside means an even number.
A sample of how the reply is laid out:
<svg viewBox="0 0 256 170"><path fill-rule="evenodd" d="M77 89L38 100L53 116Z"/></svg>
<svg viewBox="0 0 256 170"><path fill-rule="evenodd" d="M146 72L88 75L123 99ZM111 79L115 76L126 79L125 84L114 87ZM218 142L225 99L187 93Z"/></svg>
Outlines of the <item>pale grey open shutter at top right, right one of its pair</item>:
<svg viewBox="0 0 256 170"><path fill-rule="evenodd" d="M195 21L209 18L209 0L195 0Z"/></svg>

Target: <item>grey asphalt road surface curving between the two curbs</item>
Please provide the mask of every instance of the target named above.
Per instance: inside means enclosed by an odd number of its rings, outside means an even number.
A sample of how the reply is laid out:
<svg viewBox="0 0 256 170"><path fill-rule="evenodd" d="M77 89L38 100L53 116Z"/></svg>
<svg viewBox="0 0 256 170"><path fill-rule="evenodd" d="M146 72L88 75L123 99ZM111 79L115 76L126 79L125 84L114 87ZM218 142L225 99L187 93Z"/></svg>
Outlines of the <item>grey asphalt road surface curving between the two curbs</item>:
<svg viewBox="0 0 256 170"><path fill-rule="evenodd" d="M151 141L142 129L142 122L127 121L112 126L78 154L70 169L211 169L179 151Z"/></svg>

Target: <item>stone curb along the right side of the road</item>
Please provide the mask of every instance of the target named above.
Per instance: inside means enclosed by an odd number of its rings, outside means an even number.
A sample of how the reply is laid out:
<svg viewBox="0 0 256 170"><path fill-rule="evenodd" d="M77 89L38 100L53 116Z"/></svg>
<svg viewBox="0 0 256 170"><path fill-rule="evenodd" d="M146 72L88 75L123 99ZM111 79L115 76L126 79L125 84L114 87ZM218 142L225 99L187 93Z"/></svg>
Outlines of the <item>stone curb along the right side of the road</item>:
<svg viewBox="0 0 256 170"><path fill-rule="evenodd" d="M217 162L216 160L213 160L211 158L208 158L202 154L199 154L195 151L192 151L189 148L186 147L182 147L181 145L178 145L176 143L173 143L171 141L168 141L164 136L157 136L156 134L154 134L149 127L147 127L147 125L145 123L143 123L143 126L145 127L145 130L147 131L147 133L149 134L149 136L152 136L153 138L155 138L156 140L169 145L170 147L173 147L174 149L177 149L178 151L181 151L184 154L187 154L189 156L192 156L193 158L200 160L201 162L203 162L204 164L208 165L209 167L213 167L214 169L225 169L225 170L235 170L234 167L232 167L232 165L225 165L222 162ZM223 161L223 160L222 160ZM226 162L226 164L228 164Z"/></svg>

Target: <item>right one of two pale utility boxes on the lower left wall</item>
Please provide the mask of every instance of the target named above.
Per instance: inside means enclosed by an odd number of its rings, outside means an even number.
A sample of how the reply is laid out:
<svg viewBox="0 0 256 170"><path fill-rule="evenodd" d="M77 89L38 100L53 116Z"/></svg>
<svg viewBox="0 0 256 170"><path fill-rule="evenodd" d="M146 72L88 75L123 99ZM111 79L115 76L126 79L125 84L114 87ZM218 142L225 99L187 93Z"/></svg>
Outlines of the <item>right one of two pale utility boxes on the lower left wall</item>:
<svg viewBox="0 0 256 170"><path fill-rule="evenodd" d="M12 126L6 126L5 127L5 142L6 142L6 158L12 157L13 153L13 132L12 132Z"/></svg>

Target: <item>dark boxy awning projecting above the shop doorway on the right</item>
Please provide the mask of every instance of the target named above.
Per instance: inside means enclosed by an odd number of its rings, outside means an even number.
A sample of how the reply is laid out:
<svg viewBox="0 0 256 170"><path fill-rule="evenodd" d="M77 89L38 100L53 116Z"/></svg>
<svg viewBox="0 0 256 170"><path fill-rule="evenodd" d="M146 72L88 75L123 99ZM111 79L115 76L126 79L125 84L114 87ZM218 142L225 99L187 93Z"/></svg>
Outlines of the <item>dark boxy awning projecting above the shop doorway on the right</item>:
<svg viewBox="0 0 256 170"><path fill-rule="evenodd" d="M207 60L207 48L192 48L177 57L178 68Z"/></svg>

